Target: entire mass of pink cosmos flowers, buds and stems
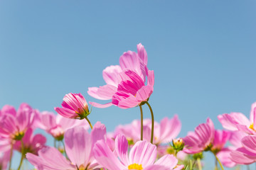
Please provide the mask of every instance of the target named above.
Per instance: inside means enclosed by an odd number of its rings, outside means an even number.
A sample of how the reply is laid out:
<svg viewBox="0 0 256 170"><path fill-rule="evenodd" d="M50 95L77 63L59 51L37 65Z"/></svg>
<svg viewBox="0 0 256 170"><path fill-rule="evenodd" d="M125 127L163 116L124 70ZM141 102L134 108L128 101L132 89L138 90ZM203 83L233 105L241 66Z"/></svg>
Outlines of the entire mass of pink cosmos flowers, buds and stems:
<svg viewBox="0 0 256 170"><path fill-rule="evenodd" d="M9 105L1 108L0 169L11 169L15 151L21 153L18 170L23 159L38 170L201 170L204 152L211 152L221 169L256 162L256 103L250 120L242 113L218 115L226 130L216 130L208 118L194 132L177 138L181 131L178 115L160 123L154 120L149 104L154 71L148 69L147 62L146 50L139 44L137 52L124 52L119 65L103 70L104 86L88 88L93 98L109 100L105 104L90 101L91 106L139 108L140 120L118 125L114 132L107 133L100 122L92 126L88 118L92 110L82 94L66 94L62 107L54 108L58 115L40 112L26 103L17 111ZM149 107L151 119L143 118L144 106ZM53 137L54 147L46 145L43 135L34 135L38 128Z"/></svg>

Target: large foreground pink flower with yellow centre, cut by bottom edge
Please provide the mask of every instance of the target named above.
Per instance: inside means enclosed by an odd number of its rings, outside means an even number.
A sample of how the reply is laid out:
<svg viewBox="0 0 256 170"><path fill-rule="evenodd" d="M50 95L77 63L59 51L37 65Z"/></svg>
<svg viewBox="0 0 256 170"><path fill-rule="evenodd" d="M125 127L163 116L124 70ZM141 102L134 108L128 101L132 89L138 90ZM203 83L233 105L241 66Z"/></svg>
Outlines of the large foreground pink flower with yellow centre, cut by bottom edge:
<svg viewBox="0 0 256 170"><path fill-rule="evenodd" d="M167 154L156 160L156 146L146 141L139 141L132 147L129 154L128 142L123 135L117 135L115 139L114 154L107 144L99 140L93 149L95 159L106 169L111 170L153 170L153 169L182 169L183 166L177 166L178 159L173 155Z"/></svg>

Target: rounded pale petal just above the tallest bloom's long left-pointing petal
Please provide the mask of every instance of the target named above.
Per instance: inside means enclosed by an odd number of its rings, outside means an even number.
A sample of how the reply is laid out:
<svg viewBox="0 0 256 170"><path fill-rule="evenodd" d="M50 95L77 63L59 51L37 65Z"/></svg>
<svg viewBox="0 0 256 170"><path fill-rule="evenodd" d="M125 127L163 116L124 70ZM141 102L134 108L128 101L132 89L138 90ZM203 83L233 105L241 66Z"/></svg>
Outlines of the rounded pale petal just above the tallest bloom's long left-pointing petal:
<svg viewBox="0 0 256 170"><path fill-rule="evenodd" d="M112 86L117 86L118 84L118 75L122 72L122 69L119 65L112 65L110 67L106 67L103 72L102 76L105 80L106 84L110 84Z"/></svg>

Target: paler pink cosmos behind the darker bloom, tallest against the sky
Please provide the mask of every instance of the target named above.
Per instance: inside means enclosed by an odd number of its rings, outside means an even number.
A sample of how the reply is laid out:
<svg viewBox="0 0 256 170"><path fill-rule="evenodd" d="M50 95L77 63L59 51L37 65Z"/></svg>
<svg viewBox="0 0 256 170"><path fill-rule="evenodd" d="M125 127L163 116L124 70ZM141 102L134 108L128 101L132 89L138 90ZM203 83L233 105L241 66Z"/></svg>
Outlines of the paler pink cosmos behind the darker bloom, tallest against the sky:
<svg viewBox="0 0 256 170"><path fill-rule="evenodd" d="M137 45L137 53L132 51L124 52L119 59L119 64L120 65L110 66L103 70L102 76L106 82L105 86L100 86L99 88L90 87L87 93L100 100L112 100L112 97L117 92L120 81L122 81L119 74L127 69L136 72L145 83L148 74L146 67L147 54L142 44L139 43L139 45ZM112 106L114 103L110 102L102 105L100 103L90 102L90 104L97 108L106 108Z"/></svg>

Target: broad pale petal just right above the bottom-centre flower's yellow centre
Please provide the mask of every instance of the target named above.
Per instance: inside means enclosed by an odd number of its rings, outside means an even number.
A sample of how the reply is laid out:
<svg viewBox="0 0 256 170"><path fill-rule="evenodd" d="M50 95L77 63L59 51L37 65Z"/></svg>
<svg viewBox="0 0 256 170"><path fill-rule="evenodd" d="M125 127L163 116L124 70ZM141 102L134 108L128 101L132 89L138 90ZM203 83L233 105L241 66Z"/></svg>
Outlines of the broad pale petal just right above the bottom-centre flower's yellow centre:
<svg viewBox="0 0 256 170"><path fill-rule="evenodd" d="M142 167L154 164L156 160L156 146L146 141L136 142L129 152L130 164L142 164Z"/></svg>

